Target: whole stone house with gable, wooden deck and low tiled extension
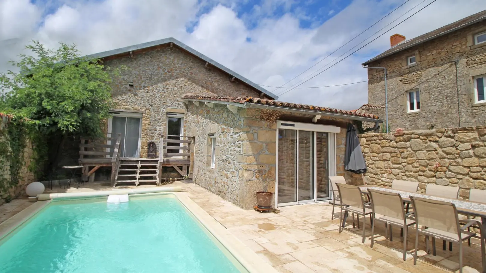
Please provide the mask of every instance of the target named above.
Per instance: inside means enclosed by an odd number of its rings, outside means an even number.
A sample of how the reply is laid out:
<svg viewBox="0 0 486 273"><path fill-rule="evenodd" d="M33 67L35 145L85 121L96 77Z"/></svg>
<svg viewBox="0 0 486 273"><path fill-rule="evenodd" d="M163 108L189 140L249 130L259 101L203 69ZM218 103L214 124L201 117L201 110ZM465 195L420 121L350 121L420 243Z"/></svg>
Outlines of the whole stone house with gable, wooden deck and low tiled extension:
<svg viewBox="0 0 486 273"><path fill-rule="evenodd" d="M111 150L83 150L103 156L80 159L85 179L97 166L111 166L114 186L159 185L161 178L190 175L245 209L256 205L262 182L277 193L274 205L325 201L331 198L330 175L353 179L344 170L347 123L382 122L366 113L278 102L173 38L92 57L110 68L128 68L113 80L117 106L106 128L121 134L120 159L112 160Z"/></svg>

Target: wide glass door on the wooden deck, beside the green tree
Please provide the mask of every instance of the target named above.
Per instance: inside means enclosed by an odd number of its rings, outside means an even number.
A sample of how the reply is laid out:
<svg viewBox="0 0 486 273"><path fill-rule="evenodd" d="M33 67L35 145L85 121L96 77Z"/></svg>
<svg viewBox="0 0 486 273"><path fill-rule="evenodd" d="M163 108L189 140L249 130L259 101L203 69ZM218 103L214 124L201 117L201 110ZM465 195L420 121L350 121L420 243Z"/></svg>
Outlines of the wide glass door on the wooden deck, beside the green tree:
<svg viewBox="0 0 486 273"><path fill-rule="evenodd" d="M112 112L108 120L108 133L121 135L120 157L140 157L141 113ZM110 143L108 143L110 144ZM110 156L113 151L110 151Z"/></svg>

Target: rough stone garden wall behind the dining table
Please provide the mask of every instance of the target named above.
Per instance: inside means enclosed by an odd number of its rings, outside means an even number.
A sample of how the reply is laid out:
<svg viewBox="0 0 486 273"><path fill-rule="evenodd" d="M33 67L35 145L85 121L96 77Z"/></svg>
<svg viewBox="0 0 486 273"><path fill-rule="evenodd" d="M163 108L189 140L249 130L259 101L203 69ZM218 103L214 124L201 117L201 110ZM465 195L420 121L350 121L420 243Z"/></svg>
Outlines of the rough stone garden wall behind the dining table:
<svg viewBox="0 0 486 273"><path fill-rule="evenodd" d="M486 127L463 127L360 135L367 185L391 186L393 179L486 189Z"/></svg>

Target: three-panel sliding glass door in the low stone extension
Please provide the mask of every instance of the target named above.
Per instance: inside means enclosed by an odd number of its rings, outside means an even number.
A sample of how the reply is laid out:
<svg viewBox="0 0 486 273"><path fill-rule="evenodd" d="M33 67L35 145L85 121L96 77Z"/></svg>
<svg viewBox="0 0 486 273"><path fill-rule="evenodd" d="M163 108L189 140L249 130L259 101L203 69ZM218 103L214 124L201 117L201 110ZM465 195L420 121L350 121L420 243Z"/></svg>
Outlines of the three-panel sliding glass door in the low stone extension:
<svg viewBox="0 0 486 273"><path fill-rule="evenodd" d="M326 132L278 129L279 206L330 199L329 136Z"/></svg>

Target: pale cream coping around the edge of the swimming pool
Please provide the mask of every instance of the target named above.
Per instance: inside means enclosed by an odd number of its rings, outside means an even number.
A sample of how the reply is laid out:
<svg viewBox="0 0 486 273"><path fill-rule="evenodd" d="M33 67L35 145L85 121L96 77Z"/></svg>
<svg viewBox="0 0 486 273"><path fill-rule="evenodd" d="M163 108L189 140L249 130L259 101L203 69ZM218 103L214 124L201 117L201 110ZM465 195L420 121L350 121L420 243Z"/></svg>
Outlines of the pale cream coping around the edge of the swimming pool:
<svg viewBox="0 0 486 273"><path fill-rule="evenodd" d="M117 194L125 189L114 190ZM241 240L237 239L229 230L226 229L220 222L214 219L203 208L197 205L185 192L180 191L177 188L176 191L156 191L156 192L137 192L134 193L132 189L126 189L126 193L133 196L149 196L149 195L165 195L173 194L177 200L209 231L209 233L217 239L223 247L236 259L238 262L250 273L277 273L277 270L273 268L269 263L261 259L258 254L251 250ZM61 198L54 198L50 200L37 201L24 210L20 211L16 215L12 216L5 222L0 223L0 240L10 233L14 232L21 224L31 219L35 214L41 211L45 206L51 202L56 201L68 201L76 199L102 199L106 194L111 192L110 190L104 191L103 194L90 194L92 192L77 193L72 195L61 195ZM113 192L112 192L113 193ZM56 196L57 197L57 196Z"/></svg>

